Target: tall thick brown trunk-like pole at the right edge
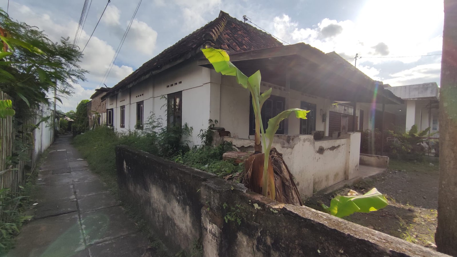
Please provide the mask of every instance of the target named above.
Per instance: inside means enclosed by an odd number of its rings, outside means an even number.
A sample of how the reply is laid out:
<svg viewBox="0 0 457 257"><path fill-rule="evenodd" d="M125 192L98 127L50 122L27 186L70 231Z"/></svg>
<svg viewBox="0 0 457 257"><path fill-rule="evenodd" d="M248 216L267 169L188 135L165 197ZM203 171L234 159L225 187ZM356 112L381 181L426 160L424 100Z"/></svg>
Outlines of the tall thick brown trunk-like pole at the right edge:
<svg viewBox="0 0 457 257"><path fill-rule="evenodd" d="M457 256L457 1L444 0L437 250Z"/></svg>

